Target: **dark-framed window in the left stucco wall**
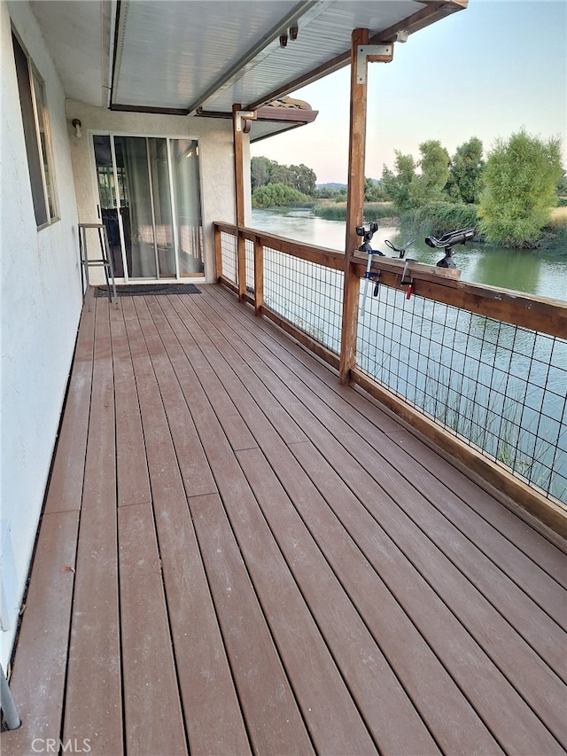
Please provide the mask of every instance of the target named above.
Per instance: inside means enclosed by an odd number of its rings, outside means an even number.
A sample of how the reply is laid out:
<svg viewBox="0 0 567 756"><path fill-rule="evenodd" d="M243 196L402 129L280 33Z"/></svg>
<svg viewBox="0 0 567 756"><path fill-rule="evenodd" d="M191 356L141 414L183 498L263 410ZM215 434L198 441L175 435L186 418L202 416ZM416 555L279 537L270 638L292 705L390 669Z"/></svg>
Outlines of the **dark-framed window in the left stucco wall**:
<svg viewBox="0 0 567 756"><path fill-rule="evenodd" d="M19 104L26 139L35 222L44 226L58 217L45 85L32 61L12 34Z"/></svg>

